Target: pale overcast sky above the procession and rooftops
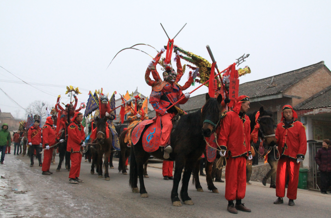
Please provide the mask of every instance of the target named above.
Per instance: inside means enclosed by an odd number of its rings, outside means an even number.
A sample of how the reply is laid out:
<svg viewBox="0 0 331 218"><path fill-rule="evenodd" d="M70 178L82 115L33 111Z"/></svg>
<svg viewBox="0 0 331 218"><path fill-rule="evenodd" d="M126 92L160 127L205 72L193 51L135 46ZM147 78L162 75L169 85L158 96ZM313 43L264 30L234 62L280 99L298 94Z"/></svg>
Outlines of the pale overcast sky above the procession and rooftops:
<svg viewBox="0 0 331 218"><path fill-rule="evenodd" d="M224 3L222 3L224 2ZM88 90L126 90L149 96L144 81L148 55L135 50L115 54L137 43L160 50L167 37L211 62L226 68L249 53L252 73L240 83L253 81L325 61L331 66L331 1L0 1L0 88L23 108L35 100L55 105L65 86L79 87L86 102ZM151 56L153 48L137 46ZM185 62L182 61L182 64ZM159 71L160 72L160 71ZM180 84L186 82L187 73ZM8 82L12 81L12 82ZM52 84L47 86L40 84ZM62 87L61 87L62 86ZM190 87L187 91L193 90ZM202 87L192 94L207 92ZM68 98L68 97L66 97ZM2 112L20 106L0 90ZM67 102L68 103L68 102ZM25 114L21 109L21 117Z"/></svg>

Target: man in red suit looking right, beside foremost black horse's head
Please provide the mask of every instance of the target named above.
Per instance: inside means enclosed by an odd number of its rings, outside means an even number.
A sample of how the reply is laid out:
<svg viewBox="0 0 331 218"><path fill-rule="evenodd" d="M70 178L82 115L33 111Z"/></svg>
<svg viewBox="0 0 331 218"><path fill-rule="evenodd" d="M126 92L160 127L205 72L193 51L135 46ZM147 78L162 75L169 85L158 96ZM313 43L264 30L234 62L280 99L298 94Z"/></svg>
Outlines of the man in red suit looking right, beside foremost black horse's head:
<svg viewBox="0 0 331 218"><path fill-rule="evenodd" d="M241 203L246 193L246 158L252 159L250 146L250 120L246 115L249 109L249 97L242 95L236 99L233 110L226 112L217 142L228 160L225 171L225 198L228 200L227 210L238 213L237 210L251 212ZM236 200L236 205L233 204Z"/></svg>

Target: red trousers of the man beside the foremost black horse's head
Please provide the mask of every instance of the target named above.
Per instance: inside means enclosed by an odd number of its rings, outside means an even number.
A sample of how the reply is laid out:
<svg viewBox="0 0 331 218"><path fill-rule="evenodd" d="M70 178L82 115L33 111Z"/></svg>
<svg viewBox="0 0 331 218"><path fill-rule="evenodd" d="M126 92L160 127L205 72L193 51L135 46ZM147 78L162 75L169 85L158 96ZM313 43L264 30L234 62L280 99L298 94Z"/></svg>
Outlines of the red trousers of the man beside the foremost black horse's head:
<svg viewBox="0 0 331 218"><path fill-rule="evenodd" d="M225 169L225 199L241 200L246 193L246 158L230 157Z"/></svg>

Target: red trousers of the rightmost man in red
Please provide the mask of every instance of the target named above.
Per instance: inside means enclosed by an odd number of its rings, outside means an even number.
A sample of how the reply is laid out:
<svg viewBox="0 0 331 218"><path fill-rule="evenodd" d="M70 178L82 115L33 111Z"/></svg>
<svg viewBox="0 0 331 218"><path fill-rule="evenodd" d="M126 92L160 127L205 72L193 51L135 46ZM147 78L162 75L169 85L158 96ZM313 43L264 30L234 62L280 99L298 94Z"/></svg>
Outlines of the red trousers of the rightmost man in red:
<svg viewBox="0 0 331 218"><path fill-rule="evenodd" d="M300 163L288 157L282 157L278 160L276 174L276 196L285 196L285 184L287 175L289 176L289 185L287 188L287 197L289 199L297 199L297 190L299 183L299 168Z"/></svg>

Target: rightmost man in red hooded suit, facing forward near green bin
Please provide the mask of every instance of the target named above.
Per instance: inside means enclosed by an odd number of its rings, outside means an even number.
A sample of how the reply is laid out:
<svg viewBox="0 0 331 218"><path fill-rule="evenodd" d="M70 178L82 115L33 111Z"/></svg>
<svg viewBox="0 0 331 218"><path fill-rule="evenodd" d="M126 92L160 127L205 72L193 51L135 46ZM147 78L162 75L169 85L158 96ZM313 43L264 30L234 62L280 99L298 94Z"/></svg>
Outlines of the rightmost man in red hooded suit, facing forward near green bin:
<svg viewBox="0 0 331 218"><path fill-rule="evenodd" d="M294 200L297 199L299 168L307 151L307 138L305 126L296 119L298 119L297 113L290 105L285 105L281 122L276 129L278 151L281 156L278 160L276 174L276 196L278 198L273 202L274 204L284 203L287 175L290 179L287 189L289 205L294 206Z"/></svg>

